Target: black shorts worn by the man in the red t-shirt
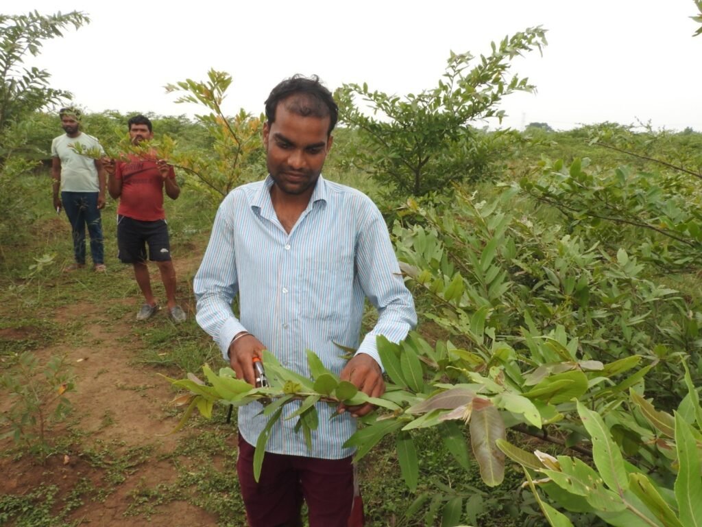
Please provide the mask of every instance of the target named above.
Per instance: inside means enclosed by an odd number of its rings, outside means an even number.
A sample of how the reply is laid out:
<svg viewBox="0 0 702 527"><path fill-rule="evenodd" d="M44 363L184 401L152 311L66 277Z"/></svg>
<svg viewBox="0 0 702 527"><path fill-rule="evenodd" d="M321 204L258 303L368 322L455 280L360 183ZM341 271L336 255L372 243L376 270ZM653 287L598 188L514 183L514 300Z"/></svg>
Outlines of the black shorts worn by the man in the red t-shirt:
<svg viewBox="0 0 702 527"><path fill-rule="evenodd" d="M127 216L117 216L117 258L122 263L146 261L149 246L151 261L170 261L166 220L139 221Z"/></svg>

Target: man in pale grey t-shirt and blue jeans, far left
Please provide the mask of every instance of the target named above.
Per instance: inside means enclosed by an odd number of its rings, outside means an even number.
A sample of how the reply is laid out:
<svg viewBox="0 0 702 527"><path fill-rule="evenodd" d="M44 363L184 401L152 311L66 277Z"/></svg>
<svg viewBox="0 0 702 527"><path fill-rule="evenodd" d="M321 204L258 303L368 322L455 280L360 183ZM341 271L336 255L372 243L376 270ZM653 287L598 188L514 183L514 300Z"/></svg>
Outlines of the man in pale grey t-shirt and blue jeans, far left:
<svg viewBox="0 0 702 527"><path fill-rule="evenodd" d="M73 233L74 263L65 271L74 271L86 265L86 227L90 235L90 252L93 269L104 272L105 248L102 240L100 209L105 207L105 170L99 159L80 155L82 150L98 150L100 157L105 150L93 136L80 129L80 112L74 108L61 108L58 113L66 132L51 143L51 177L53 177L53 206L56 212L66 211ZM59 194L60 192L60 194Z"/></svg>

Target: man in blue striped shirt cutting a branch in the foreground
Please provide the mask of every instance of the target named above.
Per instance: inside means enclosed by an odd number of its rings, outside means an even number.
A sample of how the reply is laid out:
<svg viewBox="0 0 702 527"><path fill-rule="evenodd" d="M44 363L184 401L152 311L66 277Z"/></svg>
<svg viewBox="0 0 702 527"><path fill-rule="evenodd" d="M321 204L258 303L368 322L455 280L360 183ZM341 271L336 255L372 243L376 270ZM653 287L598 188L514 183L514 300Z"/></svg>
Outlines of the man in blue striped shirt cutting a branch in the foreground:
<svg viewBox="0 0 702 527"><path fill-rule="evenodd" d="M305 350L311 349L341 379L380 396L385 384L376 337L397 342L416 325L385 221L369 197L322 177L338 108L317 77L284 80L265 104L269 174L234 189L220 205L194 279L197 321L251 384L252 359L263 349L306 377ZM237 295L238 316L232 312ZM360 339L366 298L378 321ZM357 349L355 356L345 360L337 344ZM259 403L239 409L237 469L249 524L301 526L305 500L310 527L346 527L362 512L352 511L353 450L343 443L356 429L355 418L373 408L317 405L311 450L294 430L296 419L285 419L298 408L287 404L271 430L258 483L252 445L268 417Z"/></svg>

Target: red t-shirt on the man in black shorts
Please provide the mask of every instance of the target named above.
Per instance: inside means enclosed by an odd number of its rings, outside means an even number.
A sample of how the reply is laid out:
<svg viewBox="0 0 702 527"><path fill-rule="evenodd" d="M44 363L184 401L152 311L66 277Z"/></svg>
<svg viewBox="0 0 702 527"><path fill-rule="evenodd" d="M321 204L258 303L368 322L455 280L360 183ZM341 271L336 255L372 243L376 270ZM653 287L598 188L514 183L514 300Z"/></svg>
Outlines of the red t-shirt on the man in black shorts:
<svg viewBox="0 0 702 527"><path fill-rule="evenodd" d="M155 161L134 157L129 162L117 162L114 177L122 180L117 214L139 221L166 219L164 178ZM173 167L168 177L176 177Z"/></svg>

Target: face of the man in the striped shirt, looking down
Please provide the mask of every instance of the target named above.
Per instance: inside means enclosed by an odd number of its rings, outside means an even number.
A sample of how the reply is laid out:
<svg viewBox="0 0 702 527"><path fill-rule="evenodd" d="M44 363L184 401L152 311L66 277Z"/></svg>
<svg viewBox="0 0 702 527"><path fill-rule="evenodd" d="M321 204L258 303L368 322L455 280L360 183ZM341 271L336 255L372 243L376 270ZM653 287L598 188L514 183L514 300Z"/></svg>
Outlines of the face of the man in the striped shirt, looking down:
<svg viewBox="0 0 702 527"><path fill-rule="evenodd" d="M275 122L263 125L268 173L287 195L312 195L333 137L329 117L302 117L278 103Z"/></svg>

